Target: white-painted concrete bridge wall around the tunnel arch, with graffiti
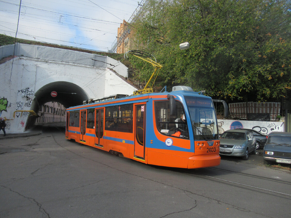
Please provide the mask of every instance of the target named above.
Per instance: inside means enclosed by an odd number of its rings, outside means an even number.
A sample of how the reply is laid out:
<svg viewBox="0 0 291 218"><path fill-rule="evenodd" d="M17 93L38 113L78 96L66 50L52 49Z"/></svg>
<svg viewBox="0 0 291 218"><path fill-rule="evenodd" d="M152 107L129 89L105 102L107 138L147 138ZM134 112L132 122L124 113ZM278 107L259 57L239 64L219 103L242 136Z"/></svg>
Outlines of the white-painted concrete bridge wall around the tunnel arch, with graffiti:
<svg viewBox="0 0 291 218"><path fill-rule="evenodd" d="M13 51L14 45L0 47L0 58ZM29 113L15 111L31 110L34 94L46 84L74 83L92 99L136 90L118 75L127 76L127 68L107 56L18 43L15 56L0 64L0 116L6 119L7 133L25 130Z"/></svg>

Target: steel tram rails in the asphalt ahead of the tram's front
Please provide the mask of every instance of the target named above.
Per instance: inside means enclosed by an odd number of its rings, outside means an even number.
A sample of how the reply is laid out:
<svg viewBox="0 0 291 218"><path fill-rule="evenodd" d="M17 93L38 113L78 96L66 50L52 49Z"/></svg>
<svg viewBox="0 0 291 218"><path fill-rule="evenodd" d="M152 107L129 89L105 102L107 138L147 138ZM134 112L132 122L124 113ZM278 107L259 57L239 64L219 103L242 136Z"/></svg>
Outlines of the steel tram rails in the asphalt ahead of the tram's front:
<svg viewBox="0 0 291 218"><path fill-rule="evenodd" d="M283 184L286 184L286 185L291 185L291 182L289 182L289 181L281 181L281 180L278 180L278 179L267 178L267 177L263 177L263 176L256 176L256 175L246 174L246 173L240 173L240 172L226 170L226 169L220 169L220 168L216 168L216 167L210 167L210 169L217 170L217 171L228 172L228 173L231 173L231 174L242 175L242 176L249 176L249 177L262 179L262 180L266 180L266 181L272 181L272 182L275 182L275 183L281 183L281 184L283 183ZM181 173L187 174L189 176L195 176L195 177L211 180L211 181L214 181L214 182L217 182L217 183L223 183L223 184L226 184L226 185L231 185L231 186L239 187L239 188L242 188L242 189L251 190L251 191L254 191L254 192L261 192L261 193L265 193L265 194L269 194L269 195L273 195L273 196L278 196L278 197L282 197L282 198L291 200L291 194L288 194L288 193L284 193L284 192L280 192L280 191L276 191L276 190L271 190L271 189L268 189L268 188L258 187L258 186L254 186L254 185L249 185L249 184L245 184L245 183L235 182L235 181L231 181L231 180L227 180L227 179L223 179L223 178L218 178L218 177L215 177L215 176L205 175L205 174L202 174L202 173L191 172L191 171L187 171L187 170L184 170L184 169L179 170L179 171Z"/></svg>

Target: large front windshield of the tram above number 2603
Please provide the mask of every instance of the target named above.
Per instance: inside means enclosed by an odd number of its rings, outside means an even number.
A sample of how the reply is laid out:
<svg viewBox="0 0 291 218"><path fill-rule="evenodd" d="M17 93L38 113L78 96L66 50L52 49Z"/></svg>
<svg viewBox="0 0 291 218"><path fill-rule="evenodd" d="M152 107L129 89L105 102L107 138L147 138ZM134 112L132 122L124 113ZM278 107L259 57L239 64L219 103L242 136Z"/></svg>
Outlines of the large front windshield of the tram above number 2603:
<svg viewBox="0 0 291 218"><path fill-rule="evenodd" d="M211 99L185 96L195 140L219 139L217 119Z"/></svg>

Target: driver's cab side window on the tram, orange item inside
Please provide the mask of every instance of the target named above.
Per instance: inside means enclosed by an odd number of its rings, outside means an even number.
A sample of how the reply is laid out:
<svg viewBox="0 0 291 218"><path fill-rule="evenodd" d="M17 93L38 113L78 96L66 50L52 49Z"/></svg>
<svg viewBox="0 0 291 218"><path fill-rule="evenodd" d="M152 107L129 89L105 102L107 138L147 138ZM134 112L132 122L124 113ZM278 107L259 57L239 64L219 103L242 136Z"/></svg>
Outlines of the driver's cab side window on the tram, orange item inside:
<svg viewBox="0 0 291 218"><path fill-rule="evenodd" d="M187 121L184 119L184 108L180 101L176 101L175 110L176 115L170 115L169 101L155 101L157 129L165 135L189 138Z"/></svg>

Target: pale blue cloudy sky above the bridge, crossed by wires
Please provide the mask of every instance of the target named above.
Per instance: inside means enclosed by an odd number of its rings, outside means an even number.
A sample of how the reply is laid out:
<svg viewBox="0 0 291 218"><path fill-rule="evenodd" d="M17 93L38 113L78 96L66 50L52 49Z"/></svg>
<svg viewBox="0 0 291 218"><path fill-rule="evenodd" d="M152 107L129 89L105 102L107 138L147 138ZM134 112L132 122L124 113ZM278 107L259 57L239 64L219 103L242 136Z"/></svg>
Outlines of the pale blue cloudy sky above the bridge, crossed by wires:
<svg viewBox="0 0 291 218"><path fill-rule="evenodd" d="M120 23L123 19L130 21L142 2L0 0L0 34L107 52L116 40Z"/></svg>

